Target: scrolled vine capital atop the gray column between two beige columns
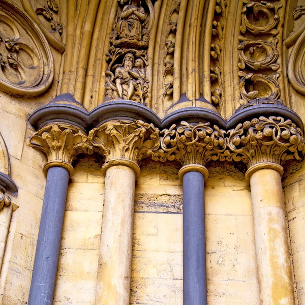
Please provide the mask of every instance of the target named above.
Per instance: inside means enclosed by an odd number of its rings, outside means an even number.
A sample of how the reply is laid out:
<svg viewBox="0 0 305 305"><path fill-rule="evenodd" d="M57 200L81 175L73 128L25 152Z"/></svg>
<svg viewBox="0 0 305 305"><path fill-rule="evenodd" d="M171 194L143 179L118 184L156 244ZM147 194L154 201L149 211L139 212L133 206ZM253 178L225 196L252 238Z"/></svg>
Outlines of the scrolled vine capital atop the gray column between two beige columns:
<svg viewBox="0 0 305 305"><path fill-rule="evenodd" d="M204 165L210 160L225 160L225 131L216 125L211 128L209 123L190 124L182 121L179 127L172 125L161 134L161 149L156 158L160 161L177 160L182 165L182 172L196 170L207 178ZM198 165L197 168L195 165Z"/></svg>

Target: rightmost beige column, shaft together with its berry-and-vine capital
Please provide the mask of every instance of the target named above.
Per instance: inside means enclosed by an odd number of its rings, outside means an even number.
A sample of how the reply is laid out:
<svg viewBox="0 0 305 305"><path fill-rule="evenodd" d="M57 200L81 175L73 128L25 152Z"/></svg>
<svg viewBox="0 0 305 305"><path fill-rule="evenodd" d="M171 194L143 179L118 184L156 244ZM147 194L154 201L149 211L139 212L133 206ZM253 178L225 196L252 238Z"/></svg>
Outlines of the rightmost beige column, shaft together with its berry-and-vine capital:
<svg viewBox="0 0 305 305"><path fill-rule="evenodd" d="M281 165L302 159L303 133L290 119L260 116L229 130L227 142L227 160L248 167L261 303L294 305Z"/></svg>

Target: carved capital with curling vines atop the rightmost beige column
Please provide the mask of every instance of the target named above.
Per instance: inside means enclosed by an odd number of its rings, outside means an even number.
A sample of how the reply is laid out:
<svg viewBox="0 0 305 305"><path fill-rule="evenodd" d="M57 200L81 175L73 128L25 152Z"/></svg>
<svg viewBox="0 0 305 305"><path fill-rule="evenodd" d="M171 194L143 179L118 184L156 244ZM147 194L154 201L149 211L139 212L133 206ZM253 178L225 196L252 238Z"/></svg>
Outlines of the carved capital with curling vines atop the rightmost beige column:
<svg viewBox="0 0 305 305"><path fill-rule="evenodd" d="M260 116L238 124L227 132L228 161L242 161L248 167L246 178L260 168L273 168L283 174L281 164L287 160L300 161L305 142L300 128L281 116Z"/></svg>

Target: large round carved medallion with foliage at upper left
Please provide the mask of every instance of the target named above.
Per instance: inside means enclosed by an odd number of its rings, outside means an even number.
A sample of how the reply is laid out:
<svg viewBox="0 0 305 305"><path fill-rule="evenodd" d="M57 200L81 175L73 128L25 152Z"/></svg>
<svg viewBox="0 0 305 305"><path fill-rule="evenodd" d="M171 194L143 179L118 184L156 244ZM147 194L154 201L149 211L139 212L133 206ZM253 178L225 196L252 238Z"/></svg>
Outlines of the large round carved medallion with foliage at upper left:
<svg viewBox="0 0 305 305"><path fill-rule="evenodd" d="M22 10L0 0L0 90L36 96L50 86L53 56L45 37Z"/></svg>

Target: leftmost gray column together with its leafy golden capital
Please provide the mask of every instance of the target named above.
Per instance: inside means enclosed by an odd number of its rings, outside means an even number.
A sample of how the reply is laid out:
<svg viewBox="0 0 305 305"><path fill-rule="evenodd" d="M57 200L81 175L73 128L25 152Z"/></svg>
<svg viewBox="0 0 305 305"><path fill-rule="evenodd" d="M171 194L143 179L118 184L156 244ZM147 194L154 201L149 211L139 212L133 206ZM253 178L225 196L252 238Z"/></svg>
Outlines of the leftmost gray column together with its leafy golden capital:
<svg viewBox="0 0 305 305"><path fill-rule="evenodd" d="M69 124L47 125L27 139L27 144L47 157L47 174L28 305L52 304L60 241L72 161L87 151L83 130Z"/></svg>

